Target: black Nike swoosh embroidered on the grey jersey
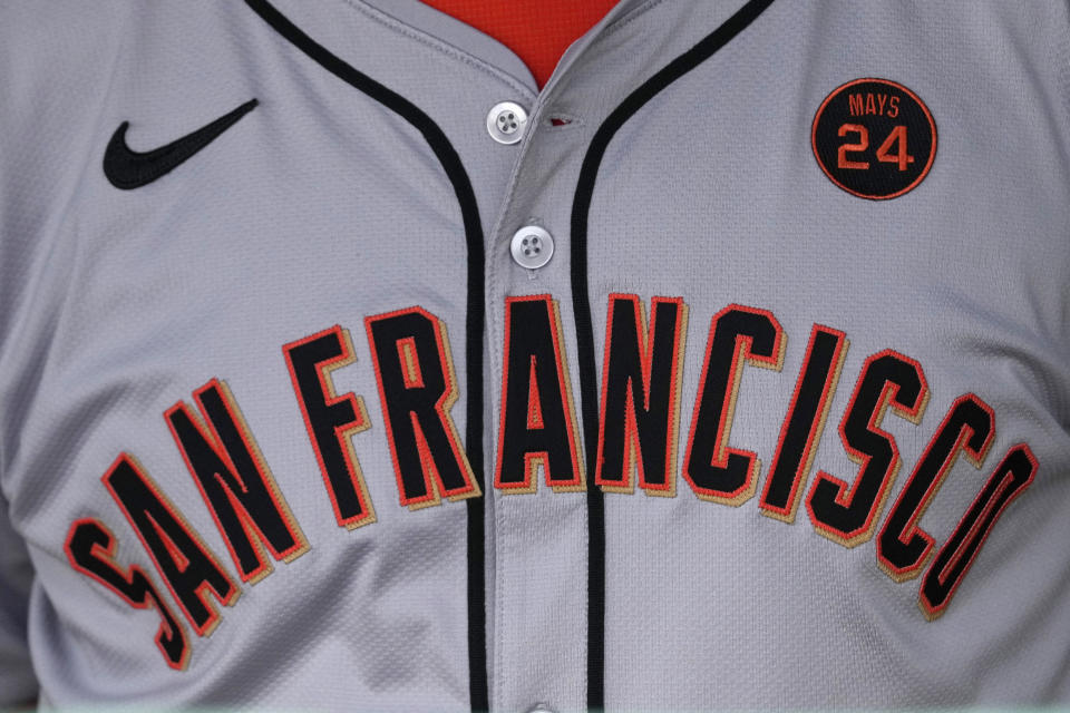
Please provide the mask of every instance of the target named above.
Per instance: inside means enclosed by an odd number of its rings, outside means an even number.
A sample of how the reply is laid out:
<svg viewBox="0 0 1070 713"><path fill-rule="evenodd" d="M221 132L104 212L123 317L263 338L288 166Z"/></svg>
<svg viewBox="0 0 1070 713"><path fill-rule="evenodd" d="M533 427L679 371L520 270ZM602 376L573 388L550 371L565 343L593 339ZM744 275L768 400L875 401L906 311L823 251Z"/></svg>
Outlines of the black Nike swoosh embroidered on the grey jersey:
<svg viewBox="0 0 1070 713"><path fill-rule="evenodd" d="M252 111L259 102L250 99L230 114L221 116L215 121L202 126L193 134L154 148L150 152L135 152L126 145L126 129L129 121L123 121L115 129L108 147L104 150L104 175L111 185L124 191L132 191L148 185L177 168L187 158L211 144L226 129L234 126L239 119Z"/></svg>

